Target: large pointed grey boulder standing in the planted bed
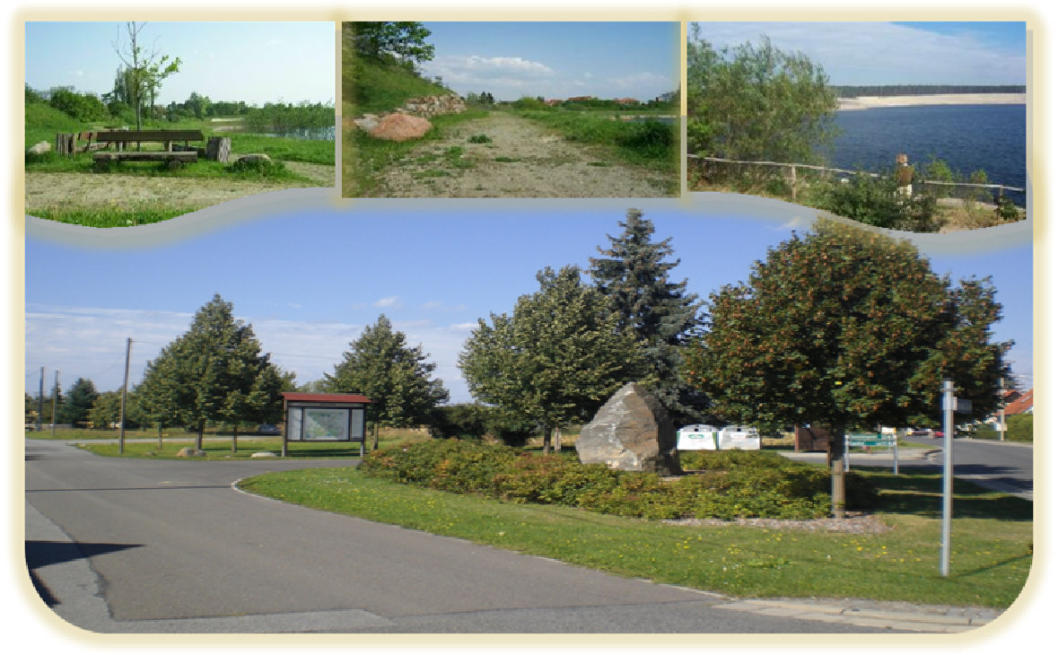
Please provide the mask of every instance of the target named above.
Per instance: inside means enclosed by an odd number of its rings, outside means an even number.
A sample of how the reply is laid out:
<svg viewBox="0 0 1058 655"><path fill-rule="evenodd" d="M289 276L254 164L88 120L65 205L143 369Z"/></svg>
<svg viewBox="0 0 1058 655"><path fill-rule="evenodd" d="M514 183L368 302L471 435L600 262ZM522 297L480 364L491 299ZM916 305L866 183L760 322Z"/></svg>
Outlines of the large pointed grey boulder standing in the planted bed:
<svg viewBox="0 0 1058 655"><path fill-rule="evenodd" d="M635 383L618 389L581 429L577 454L583 463L621 471L680 472L676 429L669 413Z"/></svg>

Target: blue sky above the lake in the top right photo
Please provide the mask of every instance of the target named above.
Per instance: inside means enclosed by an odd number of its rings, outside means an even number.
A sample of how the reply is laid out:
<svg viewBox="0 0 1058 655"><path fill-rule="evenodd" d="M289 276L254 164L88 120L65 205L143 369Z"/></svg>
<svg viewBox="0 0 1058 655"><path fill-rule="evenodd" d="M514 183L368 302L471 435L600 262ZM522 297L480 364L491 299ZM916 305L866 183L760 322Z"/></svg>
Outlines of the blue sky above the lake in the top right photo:
<svg viewBox="0 0 1058 655"><path fill-rule="evenodd" d="M799 51L835 85L1023 85L1024 22L699 22L714 46ZM692 34L689 29L689 34Z"/></svg>

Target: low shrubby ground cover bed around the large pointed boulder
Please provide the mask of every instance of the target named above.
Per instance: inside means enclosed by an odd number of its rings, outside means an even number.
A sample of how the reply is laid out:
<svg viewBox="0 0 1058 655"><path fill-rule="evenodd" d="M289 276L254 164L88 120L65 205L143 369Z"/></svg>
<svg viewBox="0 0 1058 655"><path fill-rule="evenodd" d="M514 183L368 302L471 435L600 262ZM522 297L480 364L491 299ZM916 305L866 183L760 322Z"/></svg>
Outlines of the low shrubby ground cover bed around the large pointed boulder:
<svg viewBox="0 0 1058 655"><path fill-rule="evenodd" d="M366 475L441 491L515 503L557 504L646 518L813 518L829 511L824 471L776 453L709 453L689 457L694 474L654 473L582 465L571 454L539 455L470 440L438 439L370 453ZM855 477L852 504L873 490Z"/></svg>

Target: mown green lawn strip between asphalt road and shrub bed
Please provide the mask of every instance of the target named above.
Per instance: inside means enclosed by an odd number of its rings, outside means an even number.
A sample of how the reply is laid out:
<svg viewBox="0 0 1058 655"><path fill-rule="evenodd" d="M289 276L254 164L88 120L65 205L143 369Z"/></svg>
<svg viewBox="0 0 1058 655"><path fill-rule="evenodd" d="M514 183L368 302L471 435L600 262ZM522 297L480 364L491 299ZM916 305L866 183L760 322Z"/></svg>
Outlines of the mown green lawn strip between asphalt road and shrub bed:
<svg viewBox="0 0 1058 655"><path fill-rule="evenodd" d="M369 478L352 469L270 473L248 491L554 558L622 576L743 597L833 597L1005 607L1032 563L1032 504L956 480L951 572L937 572L937 475L869 473L879 535L689 527L488 501Z"/></svg>

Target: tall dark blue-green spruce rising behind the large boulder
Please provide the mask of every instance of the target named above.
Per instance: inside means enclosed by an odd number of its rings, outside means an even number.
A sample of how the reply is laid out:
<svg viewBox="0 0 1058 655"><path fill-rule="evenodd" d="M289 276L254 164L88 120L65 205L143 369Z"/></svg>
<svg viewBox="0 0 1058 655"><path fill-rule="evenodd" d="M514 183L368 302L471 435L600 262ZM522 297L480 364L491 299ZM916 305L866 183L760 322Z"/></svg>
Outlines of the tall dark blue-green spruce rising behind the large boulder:
<svg viewBox="0 0 1058 655"><path fill-rule="evenodd" d="M680 379L681 349L701 325L701 302L687 293L687 280L669 281L679 260L672 256L672 239L652 241L654 223L639 210L628 210L624 232L606 235L610 245L592 257L591 279L614 306L620 326L631 327L638 339L645 365L641 380L678 419L700 417L703 399Z"/></svg>

